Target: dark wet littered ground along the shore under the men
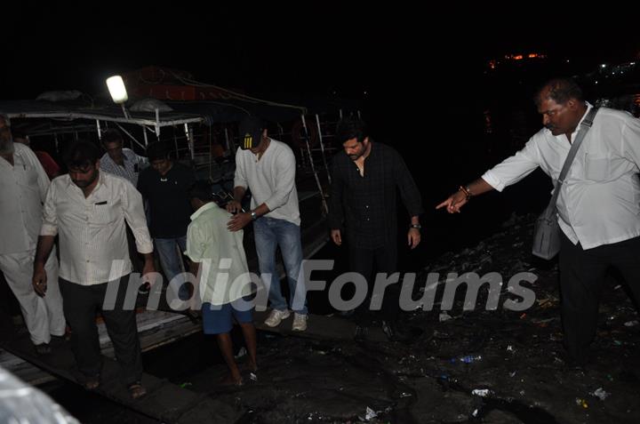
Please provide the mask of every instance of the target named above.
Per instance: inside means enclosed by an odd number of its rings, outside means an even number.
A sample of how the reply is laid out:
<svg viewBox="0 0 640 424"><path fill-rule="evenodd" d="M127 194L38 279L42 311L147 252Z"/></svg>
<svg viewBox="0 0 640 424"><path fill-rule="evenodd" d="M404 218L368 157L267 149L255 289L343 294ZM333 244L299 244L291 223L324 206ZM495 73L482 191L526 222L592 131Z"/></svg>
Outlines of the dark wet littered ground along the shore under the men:
<svg viewBox="0 0 640 424"><path fill-rule="evenodd" d="M145 354L146 371L234 405L243 423L640 422L640 324L624 282L612 275L604 289L591 363L585 370L568 367L556 264L532 257L532 218L510 220L500 233L425 268L414 299L428 272L440 273L443 284L432 310L404 314L413 334L406 343L261 333L259 372L245 373L242 388L226 388L216 383L225 368L215 341L196 335ZM535 292L532 308L503 308L509 298L521 300L506 282L522 271L537 277L522 284ZM443 311L449 272L500 273L505 284L497 308L485 310L485 286L474 310L463 310L460 288L451 310ZM313 302L311 309L318 312ZM83 422L154 422L71 384L45 389Z"/></svg>

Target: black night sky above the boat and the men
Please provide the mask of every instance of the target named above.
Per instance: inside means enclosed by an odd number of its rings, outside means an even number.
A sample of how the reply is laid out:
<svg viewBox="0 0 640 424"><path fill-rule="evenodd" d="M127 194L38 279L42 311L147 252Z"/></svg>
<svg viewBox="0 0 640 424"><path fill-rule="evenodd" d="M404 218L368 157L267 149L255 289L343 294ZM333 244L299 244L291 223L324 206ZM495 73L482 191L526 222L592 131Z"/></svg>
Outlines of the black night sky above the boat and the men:
<svg viewBox="0 0 640 424"><path fill-rule="evenodd" d="M248 2L133 3L3 6L0 97L96 92L107 76L156 65L247 92L402 92L409 101L460 94L456 88L482 74L487 60L506 53L544 52L588 68L640 52L640 32L615 16L625 15L620 9L611 17L590 13L597 16L582 23L572 11L543 7L532 13L452 4L451 11L431 11L424 4L427 12L418 12L410 4L317 3L274 11Z"/></svg>

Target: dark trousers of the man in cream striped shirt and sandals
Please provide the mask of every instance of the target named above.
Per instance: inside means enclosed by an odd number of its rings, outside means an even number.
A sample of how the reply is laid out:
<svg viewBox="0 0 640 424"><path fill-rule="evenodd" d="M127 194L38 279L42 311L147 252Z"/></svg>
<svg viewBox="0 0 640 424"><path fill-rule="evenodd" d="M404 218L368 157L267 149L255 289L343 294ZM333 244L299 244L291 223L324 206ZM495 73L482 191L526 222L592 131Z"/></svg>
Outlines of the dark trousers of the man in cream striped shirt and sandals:
<svg viewBox="0 0 640 424"><path fill-rule="evenodd" d="M71 328L71 348L76 356L78 371L85 380L100 375L102 356L96 313L100 310L108 336L113 343L118 364L122 367L124 383L129 385L142 378L140 340L135 309L123 310L129 275L120 278L116 305L104 310L108 283L81 285L60 278L64 315Z"/></svg>

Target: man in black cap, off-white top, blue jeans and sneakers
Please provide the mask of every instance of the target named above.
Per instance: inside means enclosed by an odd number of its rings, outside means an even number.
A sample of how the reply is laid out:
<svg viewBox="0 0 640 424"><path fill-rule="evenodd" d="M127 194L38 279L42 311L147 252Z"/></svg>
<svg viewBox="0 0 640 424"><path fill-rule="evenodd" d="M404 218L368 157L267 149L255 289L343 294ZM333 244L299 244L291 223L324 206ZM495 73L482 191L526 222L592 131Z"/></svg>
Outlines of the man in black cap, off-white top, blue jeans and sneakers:
<svg viewBox="0 0 640 424"><path fill-rule="evenodd" d="M276 274L276 249L280 246L294 313L292 330L303 332L307 330L307 292L300 279L302 242L295 156L286 144L267 136L267 129L256 116L248 116L240 123L240 147L236 153L234 200L227 205L228 212L236 215L228 229L237 231L253 221L260 273L263 278L270 276L269 301L273 310L265 320L270 327L291 315ZM252 209L243 212L240 202L247 188L252 192Z"/></svg>

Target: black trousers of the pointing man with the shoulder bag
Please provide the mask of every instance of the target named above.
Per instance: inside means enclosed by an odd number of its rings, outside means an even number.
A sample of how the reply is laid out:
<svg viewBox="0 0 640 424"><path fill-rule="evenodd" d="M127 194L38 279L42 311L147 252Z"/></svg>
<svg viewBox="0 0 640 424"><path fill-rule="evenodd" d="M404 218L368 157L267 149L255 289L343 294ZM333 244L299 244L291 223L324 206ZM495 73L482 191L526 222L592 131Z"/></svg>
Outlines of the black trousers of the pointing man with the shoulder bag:
<svg viewBox="0 0 640 424"><path fill-rule="evenodd" d="M587 360L596 336L598 304L606 270L617 268L637 301L640 300L640 237L583 250L562 235L560 294L564 347L579 362Z"/></svg>

